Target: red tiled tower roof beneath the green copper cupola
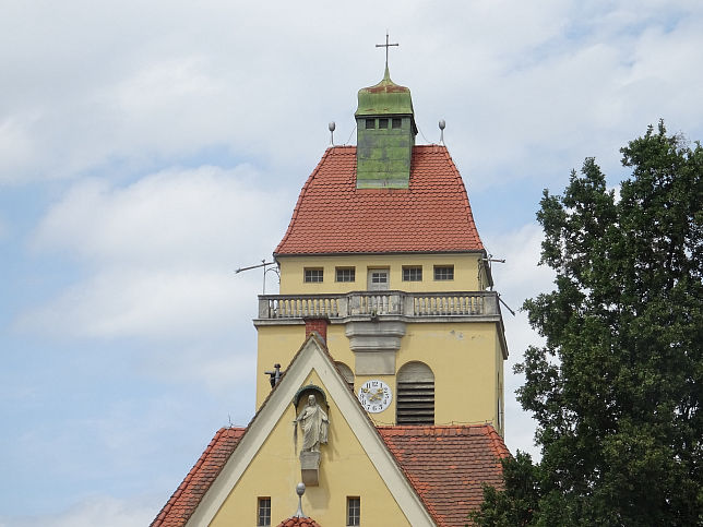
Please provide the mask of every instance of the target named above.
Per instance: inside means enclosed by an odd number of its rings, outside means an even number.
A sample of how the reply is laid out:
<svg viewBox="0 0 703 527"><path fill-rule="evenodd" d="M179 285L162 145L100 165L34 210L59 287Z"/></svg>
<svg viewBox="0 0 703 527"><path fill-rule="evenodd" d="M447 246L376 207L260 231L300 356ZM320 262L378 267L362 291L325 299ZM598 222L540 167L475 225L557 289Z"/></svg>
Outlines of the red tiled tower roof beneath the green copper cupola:
<svg viewBox="0 0 703 527"><path fill-rule="evenodd" d="M357 189L356 147L327 148L300 191L276 255L480 251L446 147L415 146L408 189Z"/></svg>

